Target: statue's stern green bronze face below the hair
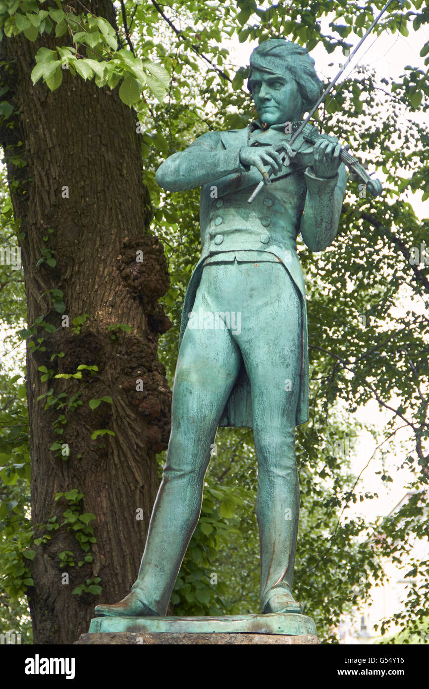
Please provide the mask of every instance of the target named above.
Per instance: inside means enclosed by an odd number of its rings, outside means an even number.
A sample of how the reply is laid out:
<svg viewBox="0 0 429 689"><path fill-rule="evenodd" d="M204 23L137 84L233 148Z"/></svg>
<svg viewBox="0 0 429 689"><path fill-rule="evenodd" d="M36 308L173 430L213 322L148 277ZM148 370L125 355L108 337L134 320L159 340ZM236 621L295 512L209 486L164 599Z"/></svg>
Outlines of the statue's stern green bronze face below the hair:
<svg viewBox="0 0 429 689"><path fill-rule="evenodd" d="M262 123L278 125L301 119L304 112L302 96L290 74L252 70L249 86Z"/></svg>

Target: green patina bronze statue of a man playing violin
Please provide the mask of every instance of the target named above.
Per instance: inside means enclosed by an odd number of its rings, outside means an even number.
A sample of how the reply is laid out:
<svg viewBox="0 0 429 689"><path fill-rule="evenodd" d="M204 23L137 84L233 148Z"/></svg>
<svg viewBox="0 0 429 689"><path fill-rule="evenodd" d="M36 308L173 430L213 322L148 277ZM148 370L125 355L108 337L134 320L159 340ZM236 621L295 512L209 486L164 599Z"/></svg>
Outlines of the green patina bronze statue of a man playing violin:
<svg viewBox="0 0 429 689"><path fill-rule="evenodd" d="M302 613L292 595L300 511L295 426L308 420L308 345L301 232L311 251L337 233L346 171L337 139L287 142L321 94L300 45L264 41L248 86L258 119L207 132L158 169L163 189L201 187L202 256L189 282L163 481L132 591L96 615L163 616L198 522L218 426L253 428L258 457L262 613ZM266 172L271 173L271 181ZM248 203L255 185L262 192Z"/></svg>

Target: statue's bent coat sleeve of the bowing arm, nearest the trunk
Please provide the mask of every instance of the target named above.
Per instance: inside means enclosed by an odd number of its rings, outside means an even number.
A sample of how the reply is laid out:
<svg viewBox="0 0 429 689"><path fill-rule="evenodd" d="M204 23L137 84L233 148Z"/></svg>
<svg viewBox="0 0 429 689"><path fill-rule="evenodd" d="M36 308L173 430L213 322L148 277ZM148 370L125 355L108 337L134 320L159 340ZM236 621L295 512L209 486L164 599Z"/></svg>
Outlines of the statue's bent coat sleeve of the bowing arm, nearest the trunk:
<svg viewBox="0 0 429 689"><path fill-rule="evenodd" d="M222 145L218 132L199 136L185 151L169 156L156 171L156 181L169 192L195 189L234 172L246 172L240 148Z"/></svg>

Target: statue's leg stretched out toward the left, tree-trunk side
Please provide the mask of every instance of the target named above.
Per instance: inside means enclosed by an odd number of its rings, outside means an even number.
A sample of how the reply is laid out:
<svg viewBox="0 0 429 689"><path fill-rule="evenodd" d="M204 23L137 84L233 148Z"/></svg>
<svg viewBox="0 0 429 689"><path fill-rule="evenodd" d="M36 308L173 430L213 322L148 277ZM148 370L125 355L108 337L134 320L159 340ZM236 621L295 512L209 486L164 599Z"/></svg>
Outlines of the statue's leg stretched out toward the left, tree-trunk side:
<svg viewBox="0 0 429 689"><path fill-rule="evenodd" d="M204 269L193 311L211 311ZM207 274L206 274L207 275ZM171 590L201 511L210 445L242 362L228 330L191 321L183 336L174 378L167 462L152 511L143 558L132 592L98 615L165 615Z"/></svg>

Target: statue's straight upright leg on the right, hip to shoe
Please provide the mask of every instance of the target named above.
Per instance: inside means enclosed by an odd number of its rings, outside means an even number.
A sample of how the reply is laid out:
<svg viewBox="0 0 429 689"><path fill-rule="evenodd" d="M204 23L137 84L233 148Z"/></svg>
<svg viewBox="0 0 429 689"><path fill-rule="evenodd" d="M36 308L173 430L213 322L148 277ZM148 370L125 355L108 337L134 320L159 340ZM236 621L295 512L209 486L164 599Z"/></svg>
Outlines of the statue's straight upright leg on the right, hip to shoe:
<svg viewBox="0 0 429 689"><path fill-rule="evenodd" d="M302 358L301 302L284 266L261 263L258 271L264 289L252 305L254 325L246 320L238 342L251 382L258 457L261 608L266 613L300 612L302 606L293 604L291 590L300 513L295 415Z"/></svg>

